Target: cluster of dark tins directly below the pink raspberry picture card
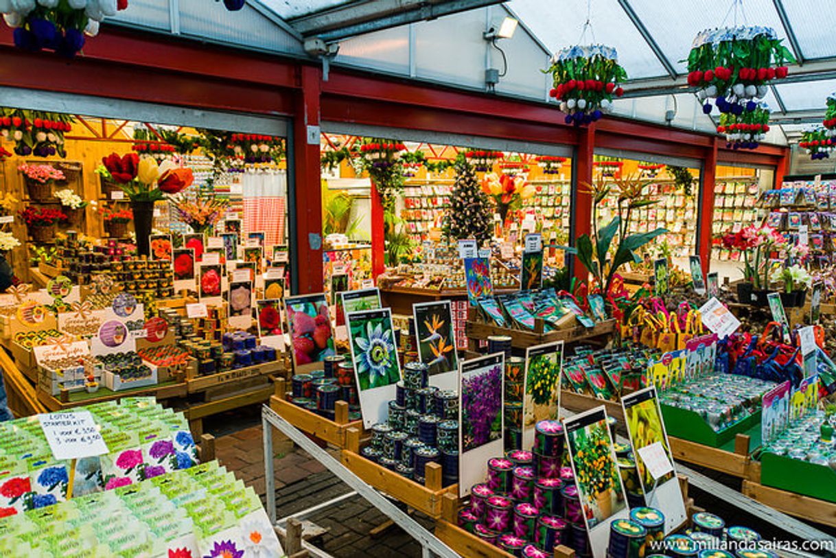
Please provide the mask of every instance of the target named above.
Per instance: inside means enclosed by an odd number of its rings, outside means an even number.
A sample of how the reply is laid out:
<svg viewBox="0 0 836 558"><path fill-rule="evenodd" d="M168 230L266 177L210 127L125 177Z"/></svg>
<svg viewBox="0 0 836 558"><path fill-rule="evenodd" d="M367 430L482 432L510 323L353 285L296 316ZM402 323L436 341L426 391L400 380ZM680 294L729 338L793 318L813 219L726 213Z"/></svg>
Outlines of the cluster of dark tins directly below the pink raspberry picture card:
<svg viewBox="0 0 836 558"><path fill-rule="evenodd" d="M338 401L349 404L349 421L359 421L360 407L354 366L346 356L327 356L322 370L295 374L290 379L290 401L321 417L334 420Z"/></svg>

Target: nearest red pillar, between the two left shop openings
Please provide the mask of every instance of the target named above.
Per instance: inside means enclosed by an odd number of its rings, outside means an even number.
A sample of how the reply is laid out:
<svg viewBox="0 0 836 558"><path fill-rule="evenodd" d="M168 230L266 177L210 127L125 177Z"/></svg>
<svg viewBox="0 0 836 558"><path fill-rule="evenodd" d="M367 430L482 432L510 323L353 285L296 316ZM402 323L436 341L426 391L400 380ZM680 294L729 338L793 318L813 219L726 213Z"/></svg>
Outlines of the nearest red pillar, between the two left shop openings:
<svg viewBox="0 0 836 558"><path fill-rule="evenodd" d="M319 94L322 71L315 66L299 68L300 89L293 118L293 163L295 166L296 239L298 290L300 294L323 290L322 190L319 177L319 135L308 142L308 126L319 126Z"/></svg>

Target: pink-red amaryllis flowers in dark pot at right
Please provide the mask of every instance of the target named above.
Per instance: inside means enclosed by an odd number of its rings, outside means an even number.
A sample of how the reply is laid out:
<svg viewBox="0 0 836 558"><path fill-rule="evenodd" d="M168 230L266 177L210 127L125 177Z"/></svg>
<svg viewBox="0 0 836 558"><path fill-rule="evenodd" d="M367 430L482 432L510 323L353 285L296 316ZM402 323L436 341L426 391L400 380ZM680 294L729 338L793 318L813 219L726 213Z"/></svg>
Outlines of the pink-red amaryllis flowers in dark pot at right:
<svg viewBox="0 0 836 558"><path fill-rule="evenodd" d="M750 225L723 237L723 246L739 250L743 257L743 280L737 284L741 304L766 306L769 254L786 245L786 239L774 228Z"/></svg>

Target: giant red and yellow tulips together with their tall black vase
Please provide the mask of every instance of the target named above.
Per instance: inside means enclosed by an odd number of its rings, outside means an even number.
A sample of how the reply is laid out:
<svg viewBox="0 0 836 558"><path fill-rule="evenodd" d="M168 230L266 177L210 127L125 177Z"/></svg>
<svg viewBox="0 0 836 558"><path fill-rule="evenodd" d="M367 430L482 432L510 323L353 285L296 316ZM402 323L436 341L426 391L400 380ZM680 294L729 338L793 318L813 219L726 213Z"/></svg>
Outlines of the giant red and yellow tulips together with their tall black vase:
<svg viewBox="0 0 836 558"><path fill-rule="evenodd" d="M162 200L166 194L173 195L191 186L194 182L191 169L178 167L173 161L158 163L153 157L140 159L136 153L123 156L111 153L102 159L102 164L111 179L130 198L137 253L149 255L154 202Z"/></svg>

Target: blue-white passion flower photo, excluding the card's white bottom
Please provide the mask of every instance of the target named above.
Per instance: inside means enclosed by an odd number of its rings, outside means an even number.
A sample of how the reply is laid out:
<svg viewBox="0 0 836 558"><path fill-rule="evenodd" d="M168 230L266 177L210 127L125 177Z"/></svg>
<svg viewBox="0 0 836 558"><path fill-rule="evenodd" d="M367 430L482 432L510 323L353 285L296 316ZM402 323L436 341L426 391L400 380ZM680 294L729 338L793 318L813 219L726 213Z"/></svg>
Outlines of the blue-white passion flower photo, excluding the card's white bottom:
<svg viewBox="0 0 836 558"><path fill-rule="evenodd" d="M391 310L349 312L351 357L360 391L400 381Z"/></svg>

